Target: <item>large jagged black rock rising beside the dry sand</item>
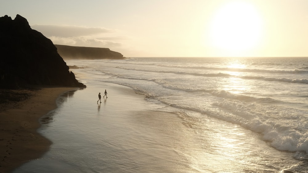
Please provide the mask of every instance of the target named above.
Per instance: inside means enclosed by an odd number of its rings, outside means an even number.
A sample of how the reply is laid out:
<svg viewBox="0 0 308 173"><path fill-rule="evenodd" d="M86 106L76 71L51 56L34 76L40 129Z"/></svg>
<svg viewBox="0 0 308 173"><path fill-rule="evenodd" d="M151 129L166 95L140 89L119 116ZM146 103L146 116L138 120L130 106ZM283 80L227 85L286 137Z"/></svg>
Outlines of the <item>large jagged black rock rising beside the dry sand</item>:
<svg viewBox="0 0 308 173"><path fill-rule="evenodd" d="M28 85L85 87L43 34L18 15L0 17L0 88Z"/></svg>

